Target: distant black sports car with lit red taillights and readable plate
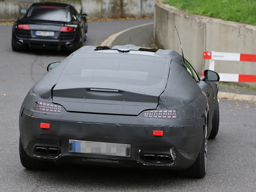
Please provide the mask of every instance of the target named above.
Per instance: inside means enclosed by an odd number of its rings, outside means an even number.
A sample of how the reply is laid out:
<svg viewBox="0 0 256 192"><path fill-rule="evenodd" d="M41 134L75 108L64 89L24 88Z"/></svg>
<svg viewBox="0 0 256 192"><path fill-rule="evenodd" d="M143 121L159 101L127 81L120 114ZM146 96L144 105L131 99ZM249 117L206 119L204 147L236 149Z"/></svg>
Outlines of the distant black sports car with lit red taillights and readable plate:
<svg viewBox="0 0 256 192"><path fill-rule="evenodd" d="M64 3L41 2L21 9L24 17L12 27L12 50L65 49L73 52L87 39L87 14Z"/></svg>

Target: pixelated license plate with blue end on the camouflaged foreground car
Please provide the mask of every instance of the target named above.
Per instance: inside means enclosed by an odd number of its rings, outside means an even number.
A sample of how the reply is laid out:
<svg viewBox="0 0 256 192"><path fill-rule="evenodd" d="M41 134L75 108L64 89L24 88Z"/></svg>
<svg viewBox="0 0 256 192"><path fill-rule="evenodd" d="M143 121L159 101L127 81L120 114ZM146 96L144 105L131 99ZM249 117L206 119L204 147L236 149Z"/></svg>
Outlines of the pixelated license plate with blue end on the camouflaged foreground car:
<svg viewBox="0 0 256 192"><path fill-rule="evenodd" d="M93 142L72 139L70 139L68 143L68 151L74 153L130 157L130 150L131 145L129 144Z"/></svg>

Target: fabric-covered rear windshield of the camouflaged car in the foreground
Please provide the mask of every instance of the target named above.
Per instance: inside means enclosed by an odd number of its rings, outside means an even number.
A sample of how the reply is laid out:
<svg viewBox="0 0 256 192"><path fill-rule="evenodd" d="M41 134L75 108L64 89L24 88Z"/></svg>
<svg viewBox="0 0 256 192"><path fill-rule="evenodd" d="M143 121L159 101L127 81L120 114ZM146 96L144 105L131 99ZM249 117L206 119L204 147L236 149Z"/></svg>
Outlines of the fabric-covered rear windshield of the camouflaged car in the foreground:
<svg viewBox="0 0 256 192"><path fill-rule="evenodd" d="M60 81L165 87L170 63L168 58L147 55L74 54Z"/></svg>

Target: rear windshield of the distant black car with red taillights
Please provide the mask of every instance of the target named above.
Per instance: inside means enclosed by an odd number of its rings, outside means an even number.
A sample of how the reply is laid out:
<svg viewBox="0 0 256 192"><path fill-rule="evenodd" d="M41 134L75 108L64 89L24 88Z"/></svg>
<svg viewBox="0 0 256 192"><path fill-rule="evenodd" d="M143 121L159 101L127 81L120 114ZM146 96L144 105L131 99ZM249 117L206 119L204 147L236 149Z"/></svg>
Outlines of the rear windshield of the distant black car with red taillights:
<svg viewBox="0 0 256 192"><path fill-rule="evenodd" d="M40 19L48 21L70 21L68 9L56 6L35 6L27 14L29 19Z"/></svg>

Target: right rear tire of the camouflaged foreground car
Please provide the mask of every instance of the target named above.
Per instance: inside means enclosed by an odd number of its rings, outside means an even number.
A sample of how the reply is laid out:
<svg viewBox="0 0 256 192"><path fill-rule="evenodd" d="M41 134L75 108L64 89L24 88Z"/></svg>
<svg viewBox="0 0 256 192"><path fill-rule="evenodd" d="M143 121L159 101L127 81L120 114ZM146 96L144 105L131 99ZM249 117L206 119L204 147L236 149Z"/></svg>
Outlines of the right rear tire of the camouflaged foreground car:
<svg viewBox="0 0 256 192"><path fill-rule="evenodd" d="M206 131L207 132L207 131ZM206 174L207 141L204 137L201 149L194 164L188 168L188 174L193 178L203 178Z"/></svg>

